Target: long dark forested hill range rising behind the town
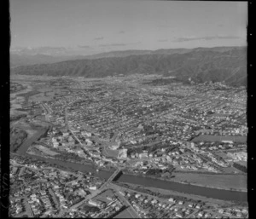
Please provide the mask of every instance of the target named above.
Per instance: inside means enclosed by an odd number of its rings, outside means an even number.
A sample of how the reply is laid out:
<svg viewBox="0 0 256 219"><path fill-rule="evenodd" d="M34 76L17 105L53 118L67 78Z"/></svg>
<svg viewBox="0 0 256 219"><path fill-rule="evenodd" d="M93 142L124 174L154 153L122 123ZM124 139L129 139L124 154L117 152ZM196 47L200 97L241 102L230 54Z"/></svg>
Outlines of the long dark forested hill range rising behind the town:
<svg viewBox="0 0 256 219"><path fill-rule="evenodd" d="M166 51L166 49L163 49ZM19 66L11 71L15 74L84 76L102 78L113 75L164 74L195 82L225 82L247 85L247 49L242 47L189 49L174 54L129 55L53 64Z"/></svg>

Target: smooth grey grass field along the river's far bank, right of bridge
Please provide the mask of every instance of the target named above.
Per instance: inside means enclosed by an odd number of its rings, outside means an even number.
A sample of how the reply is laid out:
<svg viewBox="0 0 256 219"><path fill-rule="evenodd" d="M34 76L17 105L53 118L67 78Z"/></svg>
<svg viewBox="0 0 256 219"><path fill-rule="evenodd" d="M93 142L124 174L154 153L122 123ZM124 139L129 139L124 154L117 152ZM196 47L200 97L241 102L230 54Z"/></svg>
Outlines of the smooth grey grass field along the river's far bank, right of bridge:
<svg viewBox="0 0 256 219"><path fill-rule="evenodd" d="M218 187L224 189L247 189L247 176L242 175L207 175L194 173L175 173L174 181L186 181L201 186Z"/></svg>

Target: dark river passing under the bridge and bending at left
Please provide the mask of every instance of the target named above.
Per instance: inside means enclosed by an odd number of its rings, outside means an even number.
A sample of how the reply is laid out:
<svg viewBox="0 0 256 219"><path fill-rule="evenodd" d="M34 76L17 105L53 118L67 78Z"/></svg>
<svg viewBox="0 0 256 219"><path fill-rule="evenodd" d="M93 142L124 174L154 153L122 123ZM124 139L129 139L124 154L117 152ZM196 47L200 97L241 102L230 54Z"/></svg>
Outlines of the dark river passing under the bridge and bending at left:
<svg viewBox="0 0 256 219"><path fill-rule="evenodd" d="M38 158L44 160L50 164L58 164L71 168L73 170L79 170L81 172L91 172L93 175L100 177L101 179L108 180L108 178L113 174L111 171L99 170L96 171L96 167L91 164L76 164L67 161L56 160L52 158L43 158L40 156L32 155L26 153L27 148L32 144L33 141L37 141L40 135L43 135L45 130L40 130L36 135L34 135L29 140L25 141L19 148L17 153L25 155L27 157ZM180 193L191 193L195 195L205 196L212 199L221 199L221 200L233 200L247 202L247 193L238 192L238 191L229 191L224 189L210 188L210 187L200 187L195 185L183 184L179 182L167 182L158 179L148 178L144 176L134 176L123 174L117 180L118 182L127 182L144 187L157 187L166 190L173 190Z"/></svg>

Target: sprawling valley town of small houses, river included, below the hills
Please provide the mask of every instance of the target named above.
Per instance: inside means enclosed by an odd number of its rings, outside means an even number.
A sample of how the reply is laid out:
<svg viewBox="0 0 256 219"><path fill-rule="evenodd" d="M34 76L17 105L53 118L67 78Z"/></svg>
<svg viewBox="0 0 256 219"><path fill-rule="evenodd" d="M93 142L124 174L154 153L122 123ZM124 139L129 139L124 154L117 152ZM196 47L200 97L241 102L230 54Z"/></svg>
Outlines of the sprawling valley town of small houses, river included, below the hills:
<svg viewBox="0 0 256 219"><path fill-rule="evenodd" d="M11 217L247 218L247 91L13 75Z"/></svg>

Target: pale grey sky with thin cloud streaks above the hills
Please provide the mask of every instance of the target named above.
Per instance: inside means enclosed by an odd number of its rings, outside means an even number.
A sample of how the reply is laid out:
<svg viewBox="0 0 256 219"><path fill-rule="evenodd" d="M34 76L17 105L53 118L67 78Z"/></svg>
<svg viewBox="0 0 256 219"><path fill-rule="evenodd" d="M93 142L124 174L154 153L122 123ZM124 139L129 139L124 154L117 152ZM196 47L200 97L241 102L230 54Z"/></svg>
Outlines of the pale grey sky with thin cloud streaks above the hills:
<svg viewBox="0 0 256 219"><path fill-rule="evenodd" d="M247 45L247 2L10 0L11 49L112 50Z"/></svg>

